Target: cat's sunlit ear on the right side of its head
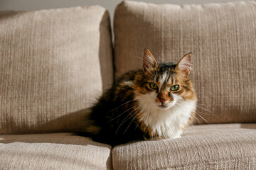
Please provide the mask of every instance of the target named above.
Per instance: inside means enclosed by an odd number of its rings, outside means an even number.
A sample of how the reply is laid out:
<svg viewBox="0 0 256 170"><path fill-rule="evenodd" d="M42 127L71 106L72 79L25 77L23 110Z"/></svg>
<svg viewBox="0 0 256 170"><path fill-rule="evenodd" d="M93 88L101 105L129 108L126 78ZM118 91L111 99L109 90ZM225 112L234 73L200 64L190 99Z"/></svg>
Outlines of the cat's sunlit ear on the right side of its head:
<svg viewBox="0 0 256 170"><path fill-rule="evenodd" d="M191 68L191 52L189 52L181 58L181 60L176 65L176 69L180 70L181 72L186 74L186 76L188 76L191 71Z"/></svg>

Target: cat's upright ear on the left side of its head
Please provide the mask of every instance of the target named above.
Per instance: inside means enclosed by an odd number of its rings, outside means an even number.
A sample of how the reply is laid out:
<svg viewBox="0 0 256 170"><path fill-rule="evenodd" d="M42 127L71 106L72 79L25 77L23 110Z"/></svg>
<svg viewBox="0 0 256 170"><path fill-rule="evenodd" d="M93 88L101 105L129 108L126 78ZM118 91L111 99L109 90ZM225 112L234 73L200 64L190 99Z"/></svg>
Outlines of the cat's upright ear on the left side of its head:
<svg viewBox="0 0 256 170"><path fill-rule="evenodd" d="M154 59L153 55L146 48L143 52L143 71L146 72L148 69L153 69L157 67L157 62Z"/></svg>

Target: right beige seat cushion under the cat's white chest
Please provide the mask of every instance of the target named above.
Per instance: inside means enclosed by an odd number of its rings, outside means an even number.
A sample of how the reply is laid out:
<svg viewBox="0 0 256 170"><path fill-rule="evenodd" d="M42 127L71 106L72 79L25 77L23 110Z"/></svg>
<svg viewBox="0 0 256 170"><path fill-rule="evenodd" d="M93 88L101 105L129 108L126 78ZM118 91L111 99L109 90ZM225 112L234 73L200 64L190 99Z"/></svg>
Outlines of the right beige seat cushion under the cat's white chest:
<svg viewBox="0 0 256 170"><path fill-rule="evenodd" d="M183 137L112 149L113 169L254 169L256 124L195 125Z"/></svg>

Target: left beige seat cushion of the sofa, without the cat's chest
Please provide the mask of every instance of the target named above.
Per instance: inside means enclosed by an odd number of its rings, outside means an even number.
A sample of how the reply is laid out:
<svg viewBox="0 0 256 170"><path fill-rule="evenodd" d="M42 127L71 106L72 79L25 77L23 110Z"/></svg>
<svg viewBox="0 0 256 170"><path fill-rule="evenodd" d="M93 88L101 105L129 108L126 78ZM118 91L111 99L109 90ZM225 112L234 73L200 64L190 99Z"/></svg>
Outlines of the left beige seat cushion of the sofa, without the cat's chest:
<svg viewBox="0 0 256 170"><path fill-rule="evenodd" d="M71 133L0 135L0 169L112 169L110 151Z"/></svg>

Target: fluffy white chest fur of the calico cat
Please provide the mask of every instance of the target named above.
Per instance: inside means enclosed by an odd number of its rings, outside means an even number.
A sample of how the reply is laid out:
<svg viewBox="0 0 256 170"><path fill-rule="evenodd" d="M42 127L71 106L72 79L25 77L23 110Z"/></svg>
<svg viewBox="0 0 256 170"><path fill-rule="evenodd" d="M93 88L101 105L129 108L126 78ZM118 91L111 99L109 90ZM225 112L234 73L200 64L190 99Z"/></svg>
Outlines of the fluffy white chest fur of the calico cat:
<svg viewBox="0 0 256 170"><path fill-rule="evenodd" d="M181 97L176 97L174 106L163 110L154 105L152 95L154 94L136 98L142 113L141 121L153 130L156 137L181 137L182 128L188 123L191 113L196 110L196 100L183 101Z"/></svg>

